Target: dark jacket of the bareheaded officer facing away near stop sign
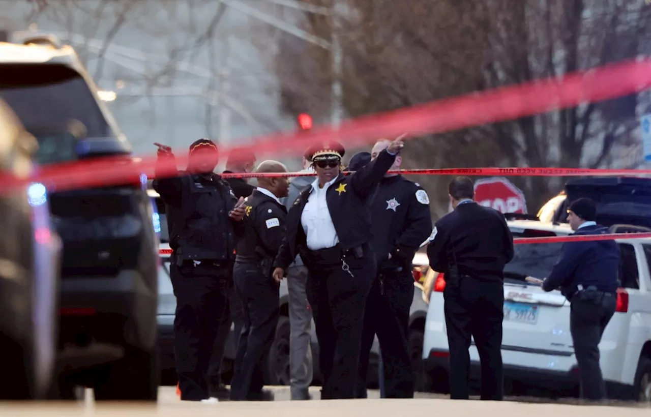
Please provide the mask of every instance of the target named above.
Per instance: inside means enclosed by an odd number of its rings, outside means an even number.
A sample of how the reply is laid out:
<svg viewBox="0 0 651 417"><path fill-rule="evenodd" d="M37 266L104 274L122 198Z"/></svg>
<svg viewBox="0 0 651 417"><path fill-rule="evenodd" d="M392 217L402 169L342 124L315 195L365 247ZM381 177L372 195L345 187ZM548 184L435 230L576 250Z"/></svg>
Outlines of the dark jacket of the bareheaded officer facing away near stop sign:
<svg viewBox="0 0 651 417"><path fill-rule="evenodd" d="M513 236L499 211L460 204L436 222L427 256L434 271L447 273L456 263L461 275L502 282L504 266L513 259Z"/></svg>

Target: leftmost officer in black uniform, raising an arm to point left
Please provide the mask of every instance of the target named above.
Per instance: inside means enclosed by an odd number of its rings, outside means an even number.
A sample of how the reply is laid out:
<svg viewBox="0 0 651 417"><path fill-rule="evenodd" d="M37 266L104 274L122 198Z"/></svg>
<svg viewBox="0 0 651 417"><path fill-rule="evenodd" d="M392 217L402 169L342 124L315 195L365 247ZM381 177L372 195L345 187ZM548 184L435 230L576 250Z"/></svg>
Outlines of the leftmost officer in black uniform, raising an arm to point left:
<svg viewBox="0 0 651 417"><path fill-rule="evenodd" d="M176 296L174 358L181 399L209 399L206 373L219 324L227 316L230 269L236 244L229 218L237 200L213 173L217 146L200 139L190 146L187 171L163 178L175 167L169 146L158 146L153 182L166 205L170 230L170 276Z"/></svg>

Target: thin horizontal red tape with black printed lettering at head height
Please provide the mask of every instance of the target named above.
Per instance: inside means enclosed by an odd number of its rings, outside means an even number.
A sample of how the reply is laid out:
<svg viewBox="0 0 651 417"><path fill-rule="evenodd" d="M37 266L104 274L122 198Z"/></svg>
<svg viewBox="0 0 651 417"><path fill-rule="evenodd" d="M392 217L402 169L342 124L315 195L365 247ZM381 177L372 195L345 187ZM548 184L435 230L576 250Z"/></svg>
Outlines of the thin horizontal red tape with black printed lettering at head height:
<svg viewBox="0 0 651 417"><path fill-rule="evenodd" d="M352 171L346 171L352 172ZM464 176L640 176L651 169L592 169L592 168L421 168L389 170L390 174L464 175ZM223 178L263 178L314 176L313 172L229 172Z"/></svg>

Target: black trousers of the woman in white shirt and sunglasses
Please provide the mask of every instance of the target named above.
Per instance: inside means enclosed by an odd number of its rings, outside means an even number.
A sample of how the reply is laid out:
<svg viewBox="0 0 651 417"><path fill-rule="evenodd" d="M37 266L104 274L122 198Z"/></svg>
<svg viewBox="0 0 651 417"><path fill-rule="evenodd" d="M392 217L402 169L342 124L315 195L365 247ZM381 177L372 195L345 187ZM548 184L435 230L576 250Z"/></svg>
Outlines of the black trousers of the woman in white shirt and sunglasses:
<svg viewBox="0 0 651 417"><path fill-rule="evenodd" d="M324 379L321 398L355 398L364 310L376 275L375 256L367 246L362 258L342 257L337 249L325 249L310 252L303 262L310 271L306 292L319 343ZM344 262L348 271L344 271Z"/></svg>

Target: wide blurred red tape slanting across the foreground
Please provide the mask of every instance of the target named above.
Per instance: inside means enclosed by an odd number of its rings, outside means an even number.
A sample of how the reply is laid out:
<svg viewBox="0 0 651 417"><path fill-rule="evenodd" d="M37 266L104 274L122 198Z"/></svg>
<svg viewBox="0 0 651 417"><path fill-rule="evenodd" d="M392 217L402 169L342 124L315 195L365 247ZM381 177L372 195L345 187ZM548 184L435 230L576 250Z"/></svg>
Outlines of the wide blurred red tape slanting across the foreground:
<svg viewBox="0 0 651 417"><path fill-rule="evenodd" d="M259 157L282 153L284 157L290 157L303 154L309 146L333 139L348 148L355 148L380 137L398 137L402 133L411 136L443 133L618 98L649 87L651 59L626 61L563 77L549 77L344 120L339 127L320 126L309 132L270 135L254 139L248 146L221 150L221 154L241 157L245 152L255 152ZM187 155L177 155L177 159L180 165L187 165ZM156 157L145 157L139 163L122 166L117 166L115 161L115 158L102 158L49 165L32 178L0 176L0 193L23 187L29 182L42 182L57 190L116 185L132 181L143 173L152 174ZM176 170L176 164L167 163L161 167L158 176L174 176Z"/></svg>

